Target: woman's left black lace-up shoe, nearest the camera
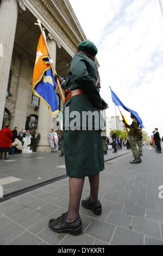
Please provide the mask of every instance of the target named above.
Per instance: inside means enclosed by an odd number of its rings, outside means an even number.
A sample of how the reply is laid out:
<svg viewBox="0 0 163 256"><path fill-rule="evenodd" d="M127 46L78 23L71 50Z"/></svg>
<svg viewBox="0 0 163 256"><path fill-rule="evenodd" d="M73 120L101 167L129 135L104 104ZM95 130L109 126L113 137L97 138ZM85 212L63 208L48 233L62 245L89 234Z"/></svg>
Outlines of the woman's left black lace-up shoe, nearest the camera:
<svg viewBox="0 0 163 256"><path fill-rule="evenodd" d="M65 232L71 235L80 235L82 233L82 220L78 215L73 221L66 221L67 213L57 219L49 220L49 228L55 232Z"/></svg>

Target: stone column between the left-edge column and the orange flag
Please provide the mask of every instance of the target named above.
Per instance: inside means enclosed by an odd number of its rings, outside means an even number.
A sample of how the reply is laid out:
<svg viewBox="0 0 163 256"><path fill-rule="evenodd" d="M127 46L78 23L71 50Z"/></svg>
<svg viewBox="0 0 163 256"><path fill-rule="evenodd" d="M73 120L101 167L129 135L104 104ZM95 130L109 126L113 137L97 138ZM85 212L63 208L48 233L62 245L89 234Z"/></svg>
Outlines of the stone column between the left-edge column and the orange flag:
<svg viewBox="0 0 163 256"><path fill-rule="evenodd" d="M13 127L17 126L18 131L21 131L22 127L26 126L27 105L30 104L32 100L32 98L29 99L30 90L32 90L29 84L30 75L30 63L27 59L24 58L22 59L20 78L18 82L15 117L13 122Z"/></svg>

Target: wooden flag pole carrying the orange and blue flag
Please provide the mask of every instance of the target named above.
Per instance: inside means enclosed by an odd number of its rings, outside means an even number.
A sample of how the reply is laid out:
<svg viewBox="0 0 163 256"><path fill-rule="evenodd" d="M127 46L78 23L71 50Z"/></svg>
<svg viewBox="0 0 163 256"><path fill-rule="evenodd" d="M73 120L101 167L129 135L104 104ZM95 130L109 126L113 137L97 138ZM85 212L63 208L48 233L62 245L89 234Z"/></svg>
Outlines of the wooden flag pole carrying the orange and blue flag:
<svg viewBox="0 0 163 256"><path fill-rule="evenodd" d="M50 63L51 63L51 68L52 68L52 70L53 70L53 74L54 74L54 75L57 75L57 72L56 72L56 70L55 70L55 68L54 68L54 65L53 65L53 62L52 62L52 59L51 59L51 53L50 53L50 51L49 51L49 47L48 47L48 44L47 44L46 34L45 34L45 31L43 31L42 26L41 26L41 21L38 19L38 20L37 20L37 23L35 23L35 25L38 25L38 26L40 27L40 30L41 30L41 33L42 33L42 36L43 36L43 39L44 39L44 41L45 41L45 45L46 45L46 48L47 48L47 51L48 51L48 55L49 55L49 58L50 58ZM58 83L58 87L59 87L59 90L60 90L60 93L61 93L62 100L63 100L64 103L65 103L65 95L64 95L64 93L63 93L63 91L62 91L61 84L60 84L60 82L59 82L58 77L57 77L57 83Z"/></svg>

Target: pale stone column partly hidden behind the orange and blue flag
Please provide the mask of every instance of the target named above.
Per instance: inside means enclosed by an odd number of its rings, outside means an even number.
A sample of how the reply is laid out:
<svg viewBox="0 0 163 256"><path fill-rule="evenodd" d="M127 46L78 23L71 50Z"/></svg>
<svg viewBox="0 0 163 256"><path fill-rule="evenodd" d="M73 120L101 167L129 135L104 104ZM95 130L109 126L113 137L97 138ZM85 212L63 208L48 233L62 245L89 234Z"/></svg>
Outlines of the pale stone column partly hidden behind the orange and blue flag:
<svg viewBox="0 0 163 256"><path fill-rule="evenodd" d="M49 36L51 39L48 39L48 47L52 54L51 58L53 59L53 65L55 67L56 62L56 51L57 51L57 44L53 40L53 36ZM48 132L52 129L52 115L51 112L48 110L47 105L40 100L40 107L39 107L39 123L38 123L38 131L40 133L40 143L39 147L37 148L38 152L50 152L52 151L51 147L49 146L48 141Z"/></svg>

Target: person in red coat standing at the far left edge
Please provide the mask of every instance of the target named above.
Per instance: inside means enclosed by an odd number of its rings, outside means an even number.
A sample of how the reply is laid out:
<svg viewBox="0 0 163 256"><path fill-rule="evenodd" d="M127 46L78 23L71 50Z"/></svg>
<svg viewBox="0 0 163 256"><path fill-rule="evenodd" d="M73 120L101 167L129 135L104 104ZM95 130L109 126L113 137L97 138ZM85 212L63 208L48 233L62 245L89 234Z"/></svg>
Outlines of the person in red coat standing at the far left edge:
<svg viewBox="0 0 163 256"><path fill-rule="evenodd" d="M9 129L9 124L5 125L5 128L1 129L0 131L0 160L4 159L7 160L7 153L9 152L9 147L11 147L13 133Z"/></svg>

